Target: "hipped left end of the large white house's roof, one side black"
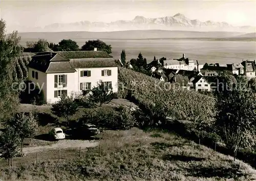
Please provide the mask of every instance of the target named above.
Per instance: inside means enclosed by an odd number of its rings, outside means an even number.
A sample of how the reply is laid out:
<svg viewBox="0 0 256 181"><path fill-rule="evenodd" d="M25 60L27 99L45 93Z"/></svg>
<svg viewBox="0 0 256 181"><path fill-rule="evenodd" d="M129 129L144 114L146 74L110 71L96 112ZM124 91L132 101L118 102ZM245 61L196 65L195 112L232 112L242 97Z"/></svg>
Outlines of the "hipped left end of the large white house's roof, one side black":
<svg viewBox="0 0 256 181"><path fill-rule="evenodd" d="M51 52L38 53L32 56L28 66L44 73L76 72L69 59Z"/></svg>

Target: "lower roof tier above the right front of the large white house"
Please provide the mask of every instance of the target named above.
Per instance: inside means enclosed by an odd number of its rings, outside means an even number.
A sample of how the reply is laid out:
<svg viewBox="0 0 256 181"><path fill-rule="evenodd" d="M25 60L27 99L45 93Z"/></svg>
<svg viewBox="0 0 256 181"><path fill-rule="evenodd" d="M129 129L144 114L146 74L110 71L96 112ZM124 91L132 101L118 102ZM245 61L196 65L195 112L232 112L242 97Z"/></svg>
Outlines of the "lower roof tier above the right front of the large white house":
<svg viewBox="0 0 256 181"><path fill-rule="evenodd" d="M71 59L70 63L74 68L117 67L113 58Z"/></svg>

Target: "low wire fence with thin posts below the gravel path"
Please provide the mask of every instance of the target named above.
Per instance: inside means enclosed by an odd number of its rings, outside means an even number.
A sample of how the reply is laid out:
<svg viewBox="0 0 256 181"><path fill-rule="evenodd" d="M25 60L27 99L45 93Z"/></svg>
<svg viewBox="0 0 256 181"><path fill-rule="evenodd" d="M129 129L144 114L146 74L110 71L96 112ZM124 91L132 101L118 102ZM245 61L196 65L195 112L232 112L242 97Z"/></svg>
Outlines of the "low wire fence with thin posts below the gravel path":
<svg viewBox="0 0 256 181"><path fill-rule="evenodd" d="M91 156L101 156L101 146L98 151L88 151L88 148L68 148L68 149L52 149L40 152L28 153L23 157L14 157L10 160L0 160L1 168L17 168L20 166L28 166L29 164L42 164L46 162L57 162L71 159L85 159Z"/></svg>

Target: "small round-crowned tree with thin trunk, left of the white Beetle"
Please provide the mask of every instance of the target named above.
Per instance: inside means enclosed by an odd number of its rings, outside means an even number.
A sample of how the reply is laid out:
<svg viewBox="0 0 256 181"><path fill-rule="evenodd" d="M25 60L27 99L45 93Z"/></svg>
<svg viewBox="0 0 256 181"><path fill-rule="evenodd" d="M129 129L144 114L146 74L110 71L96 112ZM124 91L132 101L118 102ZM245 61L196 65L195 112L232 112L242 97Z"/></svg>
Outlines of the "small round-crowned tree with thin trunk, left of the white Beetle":
<svg viewBox="0 0 256 181"><path fill-rule="evenodd" d="M7 124L18 133L22 142L22 149L25 138L34 138L38 131L38 123L31 112L28 115L17 114L8 120Z"/></svg>

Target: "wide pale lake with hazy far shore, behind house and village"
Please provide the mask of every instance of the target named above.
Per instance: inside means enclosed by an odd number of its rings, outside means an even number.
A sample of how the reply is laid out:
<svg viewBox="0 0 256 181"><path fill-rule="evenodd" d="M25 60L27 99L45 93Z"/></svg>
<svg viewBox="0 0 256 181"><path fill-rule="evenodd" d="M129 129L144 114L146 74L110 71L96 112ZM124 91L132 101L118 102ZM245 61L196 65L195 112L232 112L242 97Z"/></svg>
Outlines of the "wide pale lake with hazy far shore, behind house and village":
<svg viewBox="0 0 256 181"><path fill-rule="evenodd" d="M255 38L238 37L241 33L151 31L143 34L143 31L134 32L137 32L137 35L133 35L133 31L127 31L127 34L117 32L116 36L113 32L20 33L19 35L22 36L23 46L26 46L26 41L36 41L38 38L45 38L54 43L71 38L81 47L86 41L99 38L111 44L112 56L116 59L120 58L122 49L125 49L127 60L136 58L141 52L148 62L152 61L154 56L180 58L183 53L190 59L199 60L201 64L205 62L225 64L241 62L242 59L256 59Z"/></svg>

